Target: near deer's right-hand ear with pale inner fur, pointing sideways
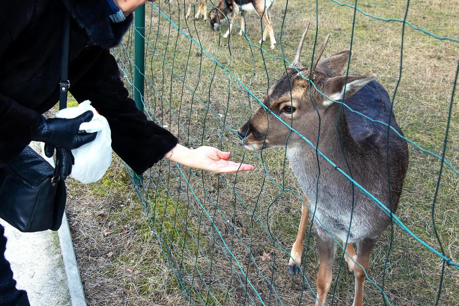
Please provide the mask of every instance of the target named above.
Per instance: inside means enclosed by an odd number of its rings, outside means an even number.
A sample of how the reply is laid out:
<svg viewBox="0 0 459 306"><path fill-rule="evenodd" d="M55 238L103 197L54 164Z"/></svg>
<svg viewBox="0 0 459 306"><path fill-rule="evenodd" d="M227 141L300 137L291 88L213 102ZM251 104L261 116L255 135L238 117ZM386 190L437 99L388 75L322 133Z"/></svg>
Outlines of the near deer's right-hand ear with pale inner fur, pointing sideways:
<svg viewBox="0 0 459 306"><path fill-rule="evenodd" d="M350 96L358 92L358 90L364 87L366 84L373 81L375 78L376 74L349 75L347 77L346 90L344 90L344 83L346 82L345 75L329 78L325 81L325 93L332 100L342 100L343 94L346 95L346 98L349 98ZM329 106L332 103L333 102L331 100L327 99L324 102L324 105Z"/></svg>

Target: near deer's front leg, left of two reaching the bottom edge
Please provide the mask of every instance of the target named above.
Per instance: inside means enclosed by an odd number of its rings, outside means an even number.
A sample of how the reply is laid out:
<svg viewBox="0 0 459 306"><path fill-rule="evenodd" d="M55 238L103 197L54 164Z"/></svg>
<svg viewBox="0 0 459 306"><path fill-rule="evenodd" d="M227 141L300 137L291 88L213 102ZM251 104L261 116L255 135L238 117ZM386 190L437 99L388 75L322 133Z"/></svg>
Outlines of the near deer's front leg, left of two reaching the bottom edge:
<svg viewBox="0 0 459 306"><path fill-rule="evenodd" d="M321 236L318 233L316 239L319 249L319 273L317 273L317 300L315 305L324 306L325 298L331 286L331 267L335 259L336 244L328 234Z"/></svg>

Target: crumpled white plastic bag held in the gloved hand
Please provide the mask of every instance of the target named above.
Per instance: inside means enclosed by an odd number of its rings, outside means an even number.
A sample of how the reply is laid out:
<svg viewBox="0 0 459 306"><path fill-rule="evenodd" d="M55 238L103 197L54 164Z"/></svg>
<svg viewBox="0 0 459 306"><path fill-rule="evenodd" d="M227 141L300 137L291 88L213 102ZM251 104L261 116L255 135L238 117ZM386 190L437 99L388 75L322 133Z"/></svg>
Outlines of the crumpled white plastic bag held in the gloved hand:
<svg viewBox="0 0 459 306"><path fill-rule="evenodd" d="M92 111L94 117L90 122L83 122L80 130L88 133L98 132L93 141L72 150L75 164L72 177L82 183L93 183L102 178L112 162L112 133L107 119L99 115L86 100L77 107L68 107L56 113L56 118L75 118L85 111Z"/></svg>

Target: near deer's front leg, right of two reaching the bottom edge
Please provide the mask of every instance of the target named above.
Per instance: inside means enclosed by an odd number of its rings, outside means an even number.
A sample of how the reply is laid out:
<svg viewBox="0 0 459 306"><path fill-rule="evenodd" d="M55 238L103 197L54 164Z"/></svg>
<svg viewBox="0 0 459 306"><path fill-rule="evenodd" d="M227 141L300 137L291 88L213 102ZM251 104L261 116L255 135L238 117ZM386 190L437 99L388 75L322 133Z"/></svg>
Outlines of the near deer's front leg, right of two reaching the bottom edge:
<svg viewBox="0 0 459 306"><path fill-rule="evenodd" d="M357 262L363 269L357 264L354 266L355 295L353 306L362 306L364 302L365 271L368 273L370 255L375 243L376 239L364 239L357 244Z"/></svg>

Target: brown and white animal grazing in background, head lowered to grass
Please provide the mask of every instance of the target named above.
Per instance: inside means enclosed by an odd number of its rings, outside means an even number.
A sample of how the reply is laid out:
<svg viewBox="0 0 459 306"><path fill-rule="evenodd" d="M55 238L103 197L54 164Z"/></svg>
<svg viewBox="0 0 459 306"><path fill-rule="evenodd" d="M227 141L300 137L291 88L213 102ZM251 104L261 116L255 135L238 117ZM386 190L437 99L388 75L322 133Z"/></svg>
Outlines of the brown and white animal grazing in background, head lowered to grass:
<svg viewBox="0 0 459 306"><path fill-rule="evenodd" d="M224 38L227 38L231 33L235 17L239 11L256 11L258 16L263 18L265 25L262 38L258 41L258 43L261 44L262 41L266 40L266 34L269 33L269 40L271 42L270 47L271 49L274 49L276 39L274 38L274 29L270 14L271 6L273 4L274 0L221 0L217 6L218 9L214 8L209 12L210 28L213 31L217 31L220 28L220 22L225 19L225 15L228 16L228 14L231 13L231 17L229 18L229 28L223 35ZM243 16L241 12L241 30L239 31L239 35L242 36L245 31L245 16Z"/></svg>

